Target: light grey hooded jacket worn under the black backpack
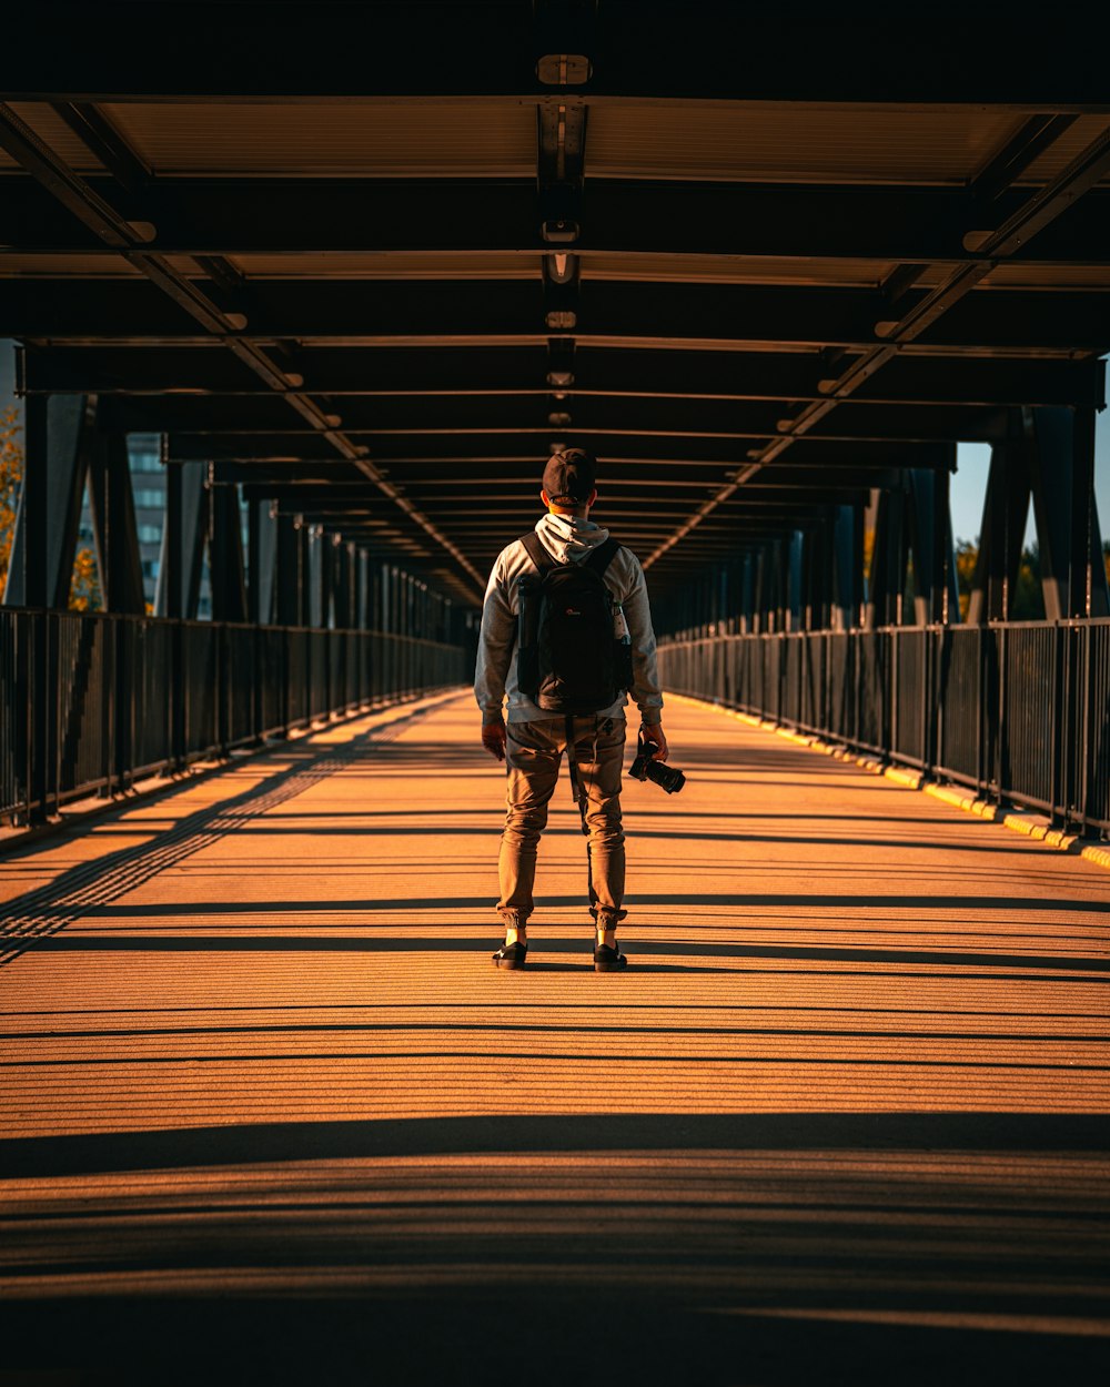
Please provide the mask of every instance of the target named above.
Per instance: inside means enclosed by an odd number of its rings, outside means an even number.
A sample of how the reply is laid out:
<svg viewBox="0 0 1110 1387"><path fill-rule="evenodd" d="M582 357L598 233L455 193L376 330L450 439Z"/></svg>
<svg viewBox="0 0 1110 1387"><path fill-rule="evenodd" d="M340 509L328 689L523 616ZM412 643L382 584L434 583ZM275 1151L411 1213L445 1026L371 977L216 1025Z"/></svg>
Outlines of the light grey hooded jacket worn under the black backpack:
<svg viewBox="0 0 1110 1387"><path fill-rule="evenodd" d="M580 520L577 516L556 516L548 512L536 524L536 533L556 563L581 563L598 545L605 544L609 531ZM516 680L516 581L522 573L534 573L536 566L520 540L501 551L490 573L486 603L481 609L481 637L477 648L475 698L481 709L483 723L495 723L502 716L502 700L508 696L511 723L547 721L552 717L520 692ZM658 723L663 707L659 691L659 671L655 666L655 631L651 624L648 585L640 560L629 549L619 549L605 570L605 585L624 608L629 638L633 648L633 699L645 723ZM629 699L624 694L599 717L623 717Z"/></svg>

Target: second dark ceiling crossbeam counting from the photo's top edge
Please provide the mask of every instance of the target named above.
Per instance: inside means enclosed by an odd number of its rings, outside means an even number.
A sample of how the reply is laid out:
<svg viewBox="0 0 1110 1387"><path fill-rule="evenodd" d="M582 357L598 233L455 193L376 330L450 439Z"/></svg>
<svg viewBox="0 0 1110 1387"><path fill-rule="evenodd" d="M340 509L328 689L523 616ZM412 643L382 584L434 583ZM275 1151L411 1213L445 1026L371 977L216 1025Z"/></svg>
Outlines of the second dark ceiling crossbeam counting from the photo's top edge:
<svg viewBox="0 0 1110 1387"><path fill-rule="evenodd" d="M78 122L75 112L83 112L83 125L97 111L79 103L61 110L71 125ZM558 108L551 110L554 119ZM112 161L115 175L89 175L86 186L114 200L121 180L117 169L125 158L122 141L115 136L107 146L87 126L82 139L105 164ZM135 172L125 176L129 186L137 186L143 165L133 151L129 157ZM573 252L581 257L587 280L610 270L613 255L622 257L622 275L640 272L645 279L683 275L688 257L719 257L716 273L726 279L745 269L789 270L799 277L810 261L817 262L809 266L810 275L819 276L820 262L830 261L841 272L856 266L866 276L877 273L869 262L956 266L978 259L963 244L967 226L984 207L974 189L605 178L588 178L586 186L588 216ZM1007 189L991 200L992 212L1009 216L1024 197ZM122 198L121 205L126 204ZM450 218L443 216L444 204L451 207ZM427 261L423 273L434 272L436 257L448 254L476 257L475 272L481 270L480 257L520 257L519 265L509 261L502 273L538 277L536 255L551 250L543 239L531 179L186 176L143 186L136 205L157 227L153 247L160 254L241 257L248 273L250 257L357 252L380 255L379 273L390 276L420 273L420 257ZM1046 233L1030 248L1030 264L1107 264L1110 190L1095 190L1075 214L1067 232ZM8 255L80 252L103 259L105 272L111 270L103 243L58 216L29 178L6 179L0 227ZM400 266L391 264L395 252L404 255ZM670 257L673 265L658 264ZM254 273L265 279L290 269L259 265ZM692 276L710 272L694 261ZM305 261L302 273L326 276L329 270Z"/></svg>

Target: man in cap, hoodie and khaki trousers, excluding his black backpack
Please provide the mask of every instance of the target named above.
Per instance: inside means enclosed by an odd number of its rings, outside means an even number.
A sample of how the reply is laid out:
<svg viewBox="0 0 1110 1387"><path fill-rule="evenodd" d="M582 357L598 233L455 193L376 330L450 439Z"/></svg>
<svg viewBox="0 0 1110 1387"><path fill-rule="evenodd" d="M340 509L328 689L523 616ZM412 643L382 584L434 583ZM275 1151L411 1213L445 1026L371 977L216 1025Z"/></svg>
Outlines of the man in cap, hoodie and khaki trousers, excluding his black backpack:
<svg viewBox="0 0 1110 1387"><path fill-rule="evenodd" d="M609 538L590 519L597 501L595 459L580 448L556 452L544 469L540 499L547 513L536 534L552 565L584 563ZM530 537L529 537L530 538ZM612 548L612 546L610 546ZM590 836L591 902L597 927L594 967L609 972L627 965L616 942L624 918L624 834L620 827L620 771L624 759L624 706L616 700L573 720L544 712L520 688L518 660L518 583L536 576L526 541L516 540L498 555L486 589L475 696L481 709L481 743L497 760L508 760L508 813L501 839L498 911L505 943L494 954L501 967L520 968L527 960L527 920L533 911L536 852L547 825L547 806L559 778L563 752L577 763L586 791L584 825ZM644 570L629 549L617 548L602 574L613 602L623 608L631 642L631 694L642 734L655 743L656 760L667 759L660 713L663 698L655 666ZM576 580L577 581L577 580ZM508 703L508 727L502 713Z"/></svg>

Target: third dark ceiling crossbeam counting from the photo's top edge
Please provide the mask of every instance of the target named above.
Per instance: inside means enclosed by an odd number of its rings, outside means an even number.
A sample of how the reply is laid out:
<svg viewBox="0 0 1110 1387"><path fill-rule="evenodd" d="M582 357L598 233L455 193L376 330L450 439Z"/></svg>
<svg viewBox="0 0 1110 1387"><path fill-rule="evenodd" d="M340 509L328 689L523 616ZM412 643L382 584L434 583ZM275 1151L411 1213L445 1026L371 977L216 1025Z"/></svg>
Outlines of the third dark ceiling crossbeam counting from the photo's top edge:
<svg viewBox="0 0 1110 1387"><path fill-rule="evenodd" d="M158 265L158 277L164 273L165 268ZM250 333L237 319L197 308L193 295L198 291L191 284L175 284L172 294L160 291L164 287L142 279L79 284L3 282L0 333L32 340L169 345L215 333L251 369L257 368L278 391L286 393L294 408L301 397L289 393L284 370L259 344L283 338L336 345L390 341L397 347L422 341L495 345L506 338L522 344L547 340L538 284L438 282L434 293L420 283L364 280L275 283L266 284L265 291L255 286L258 308ZM907 316L931 298L931 293L914 293ZM187 318L182 316L182 308ZM606 340L648 347L684 340L706 347L730 343L871 350L877 325L881 326L887 312L881 294L870 290L655 284L651 295L645 295L634 283L595 283L583 286L576 338L599 345ZM203 329L200 334L197 326ZM942 323L931 322L930 343L945 348L1020 347L1102 355L1110 345L1110 329L1099 295L999 288L970 293ZM888 355L894 355L892 345L884 348ZM259 354L264 365L255 359ZM839 383L837 388L842 388Z"/></svg>

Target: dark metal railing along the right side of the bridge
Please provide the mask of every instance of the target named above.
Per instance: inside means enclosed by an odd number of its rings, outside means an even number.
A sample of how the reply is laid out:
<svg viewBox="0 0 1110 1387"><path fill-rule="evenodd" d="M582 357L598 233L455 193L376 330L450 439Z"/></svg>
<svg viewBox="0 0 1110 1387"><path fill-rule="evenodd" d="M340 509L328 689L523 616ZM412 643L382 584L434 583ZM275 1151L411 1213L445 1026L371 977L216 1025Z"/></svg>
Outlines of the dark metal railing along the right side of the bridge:
<svg viewBox="0 0 1110 1387"><path fill-rule="evenodd" d="M666 688L1110 831L1110 620L663 641Z"/></svg>

